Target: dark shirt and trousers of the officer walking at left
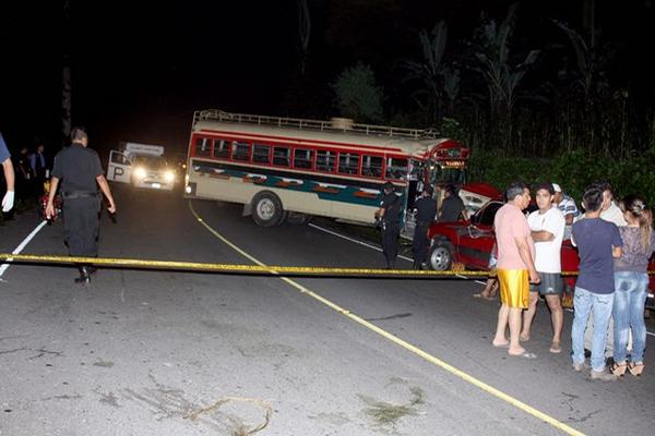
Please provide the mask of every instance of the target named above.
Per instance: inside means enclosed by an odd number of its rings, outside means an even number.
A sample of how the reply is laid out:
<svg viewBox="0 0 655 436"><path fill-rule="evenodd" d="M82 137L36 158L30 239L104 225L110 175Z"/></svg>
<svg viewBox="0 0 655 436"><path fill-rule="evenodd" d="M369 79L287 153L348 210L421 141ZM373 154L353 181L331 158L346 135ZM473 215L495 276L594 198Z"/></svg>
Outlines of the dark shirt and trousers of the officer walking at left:
<svg viewBox="0 0 655 436"><path fill-rule="evenodd" d="M104 174L98 154L73 143L55 157L52 177L61 180L64 241L71 256L97 257L100 196L96 178Z"/></svg>

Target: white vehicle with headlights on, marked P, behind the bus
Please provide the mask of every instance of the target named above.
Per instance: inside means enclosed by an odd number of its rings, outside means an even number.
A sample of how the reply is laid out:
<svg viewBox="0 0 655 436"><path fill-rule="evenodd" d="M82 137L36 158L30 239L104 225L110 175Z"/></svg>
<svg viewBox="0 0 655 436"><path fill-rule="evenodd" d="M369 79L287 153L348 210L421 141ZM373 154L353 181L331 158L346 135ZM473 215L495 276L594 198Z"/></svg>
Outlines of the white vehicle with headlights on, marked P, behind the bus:
<svg viewBox="0 0 655 436"><path fill-rule="evenodd" d="M122 143L120 150L109 153L107 180L170 191L176 181L176 169L164 159L160 145Z"/></svg>

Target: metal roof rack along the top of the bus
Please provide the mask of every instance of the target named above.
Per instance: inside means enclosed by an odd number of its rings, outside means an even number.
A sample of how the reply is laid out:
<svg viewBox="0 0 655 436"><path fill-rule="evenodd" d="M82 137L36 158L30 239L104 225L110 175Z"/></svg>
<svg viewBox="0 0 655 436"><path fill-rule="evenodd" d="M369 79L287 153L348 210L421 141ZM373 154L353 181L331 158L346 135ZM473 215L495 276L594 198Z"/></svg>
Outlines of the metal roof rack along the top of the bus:
<svg viewBox="0 0 655 436"><path fill-rule="evenodd" d="M360 133L364 135L412 137L415 140L434 140L439 137L438 132L434 129L404 129L392 128L388 125L358 124L347 119L319 121L288 117L254 116L249 113L225 112L218 109L196 110L195 112L193 112L193 124L200 121L235 122L246 124L271 125L278 128L308 129L318 131L338 130L344 132Z"/></svg>

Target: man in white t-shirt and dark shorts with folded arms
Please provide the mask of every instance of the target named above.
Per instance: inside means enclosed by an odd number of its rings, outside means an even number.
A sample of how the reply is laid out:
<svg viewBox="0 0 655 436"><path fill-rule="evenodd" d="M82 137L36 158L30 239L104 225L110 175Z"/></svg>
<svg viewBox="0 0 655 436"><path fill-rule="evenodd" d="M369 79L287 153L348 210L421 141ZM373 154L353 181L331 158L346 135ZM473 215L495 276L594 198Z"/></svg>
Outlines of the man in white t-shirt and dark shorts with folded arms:
<svg viewBox="0 0 655 436"><path fill-rule="evenodd" d="M550 310L552 324L552 342L550 352L559 353L561 348L562 325L564 313L561 296L563 291L561 247L564 237L564 215L553 205L555 189L551 183L540 183L536 186L535 199L538 210L527 217L527 225L535 241L535 267L541 278L540 283L531 286L529 305L523 312L523 329L521 339L529 340L529 329L537 311L539 293L546 299Z"/></svg>

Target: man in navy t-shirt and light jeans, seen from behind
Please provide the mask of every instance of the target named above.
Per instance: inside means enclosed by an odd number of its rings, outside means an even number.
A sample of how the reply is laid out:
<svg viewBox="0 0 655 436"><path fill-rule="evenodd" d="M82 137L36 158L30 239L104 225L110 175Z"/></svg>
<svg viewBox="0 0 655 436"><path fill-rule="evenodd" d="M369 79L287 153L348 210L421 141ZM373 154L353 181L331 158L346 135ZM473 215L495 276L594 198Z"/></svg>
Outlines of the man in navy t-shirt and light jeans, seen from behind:
<svg viewBox="0 0 655 436"><path fill-rule="evenodd" d="M573 225L571 241L577 245L580 275L575 282L573 306L573 370L585 368L584 330L590 314L594 314L592 341L592 379L612 380L616 376L605 367L607 328L615 299L614 259L621 257L619 228L600 218L603 187L592 184L583 195L585 219Z"/></svg>

